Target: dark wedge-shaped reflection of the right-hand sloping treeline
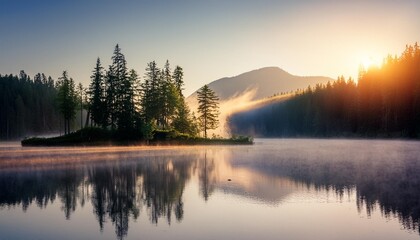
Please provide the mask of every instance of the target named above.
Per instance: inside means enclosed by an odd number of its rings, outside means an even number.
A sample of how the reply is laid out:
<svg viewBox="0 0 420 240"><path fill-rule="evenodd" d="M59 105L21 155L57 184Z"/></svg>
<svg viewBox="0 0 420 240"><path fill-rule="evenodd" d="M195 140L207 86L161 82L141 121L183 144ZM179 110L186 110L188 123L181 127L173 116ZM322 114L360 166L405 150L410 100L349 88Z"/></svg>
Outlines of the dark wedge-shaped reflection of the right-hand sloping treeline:
<svg viewBox="0 0 420 240"><path fill-rule="evenodd" d="M319 191L334 190L340 198L355 190L359 212L365 208L370 217L379 207L384 217L398 218L405 229L420 234L418 156L409 153L395 159L392 156L352 158L333 155L320 153L319 156L290 158L286 154L275 159L254 159L240 153L234 159L241 159L241 164L272 177L288 177Z"/></svg>

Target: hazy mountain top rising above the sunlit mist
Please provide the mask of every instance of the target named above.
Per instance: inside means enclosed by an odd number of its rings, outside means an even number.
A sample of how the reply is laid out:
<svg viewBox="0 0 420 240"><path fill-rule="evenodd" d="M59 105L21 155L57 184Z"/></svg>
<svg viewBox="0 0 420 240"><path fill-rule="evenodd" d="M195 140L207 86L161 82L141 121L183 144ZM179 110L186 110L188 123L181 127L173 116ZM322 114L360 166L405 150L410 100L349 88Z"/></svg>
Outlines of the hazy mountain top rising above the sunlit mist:
<svg viewBox="0 0 420 240"><path fill-rule="evenodd" d="M306 89L309 85L334 81L329 77L311 76L301 77L292 75L278 67L265 67L240 74L235 77L225 77L213 81L208 86L216 92L221 101L232 99L252 91L249 100L258 100L286 93L297 89ZM196 93L191 94L187 101L196 98Z"/></svg>

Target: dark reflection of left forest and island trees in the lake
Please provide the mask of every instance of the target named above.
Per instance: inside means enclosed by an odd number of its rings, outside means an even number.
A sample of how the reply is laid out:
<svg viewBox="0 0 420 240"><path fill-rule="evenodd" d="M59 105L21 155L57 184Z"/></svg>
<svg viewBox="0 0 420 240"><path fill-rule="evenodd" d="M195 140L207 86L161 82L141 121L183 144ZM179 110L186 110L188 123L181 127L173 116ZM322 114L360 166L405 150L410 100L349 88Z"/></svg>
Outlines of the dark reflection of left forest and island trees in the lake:
<svg viewBox="0 0 420 240"><path fill-rule="evenodd" d="M118 238L127 235L129 219L137 219L144 207L150 222L165 218L168 224L183 218L182 193L191 175L192 159L154 156L136 162L114 161L85 164L64 170L0 173L0 206L36 204L46 208L58 200L66 219L90 200L102 231L110 220Z"/></svg>

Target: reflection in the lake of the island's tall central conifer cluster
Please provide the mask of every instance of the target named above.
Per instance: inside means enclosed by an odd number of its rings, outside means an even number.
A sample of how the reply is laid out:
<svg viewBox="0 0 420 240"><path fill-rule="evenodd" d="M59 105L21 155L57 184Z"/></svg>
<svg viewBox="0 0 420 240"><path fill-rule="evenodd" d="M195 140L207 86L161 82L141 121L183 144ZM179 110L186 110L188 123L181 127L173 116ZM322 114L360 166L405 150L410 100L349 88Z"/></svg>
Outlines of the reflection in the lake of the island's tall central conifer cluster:
<svg viewBox="0 0 420 240"><path fill-rule="evenodd" d="M91 200L100 228L103 229L108 217L117 236L123 238L127 235L129 218L137 219L142 206L146 206L154 224L163 216L170 224L172 212L180 221L190 164L191 161L153 157L142 164L89 168Z"/></svg>

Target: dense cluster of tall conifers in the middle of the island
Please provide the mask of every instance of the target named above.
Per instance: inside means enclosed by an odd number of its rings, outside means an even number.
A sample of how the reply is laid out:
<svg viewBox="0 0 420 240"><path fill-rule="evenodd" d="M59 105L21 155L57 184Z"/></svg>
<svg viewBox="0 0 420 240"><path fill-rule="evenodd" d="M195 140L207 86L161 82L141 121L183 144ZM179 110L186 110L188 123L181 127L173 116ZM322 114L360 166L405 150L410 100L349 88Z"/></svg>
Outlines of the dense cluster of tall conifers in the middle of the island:
<svg viewBox="0 0 420 240"><path fill-rule="evenodd" d="M111 129L127 139L151 139L156 129L198 134L197 120L182 94L180 66L172 71L169 61L162 69L155 61L149 62L140 81L134 69L128 70L118 45L111 59L104 71L98 58L91 76L88 107L93 126Z"/></svg>

